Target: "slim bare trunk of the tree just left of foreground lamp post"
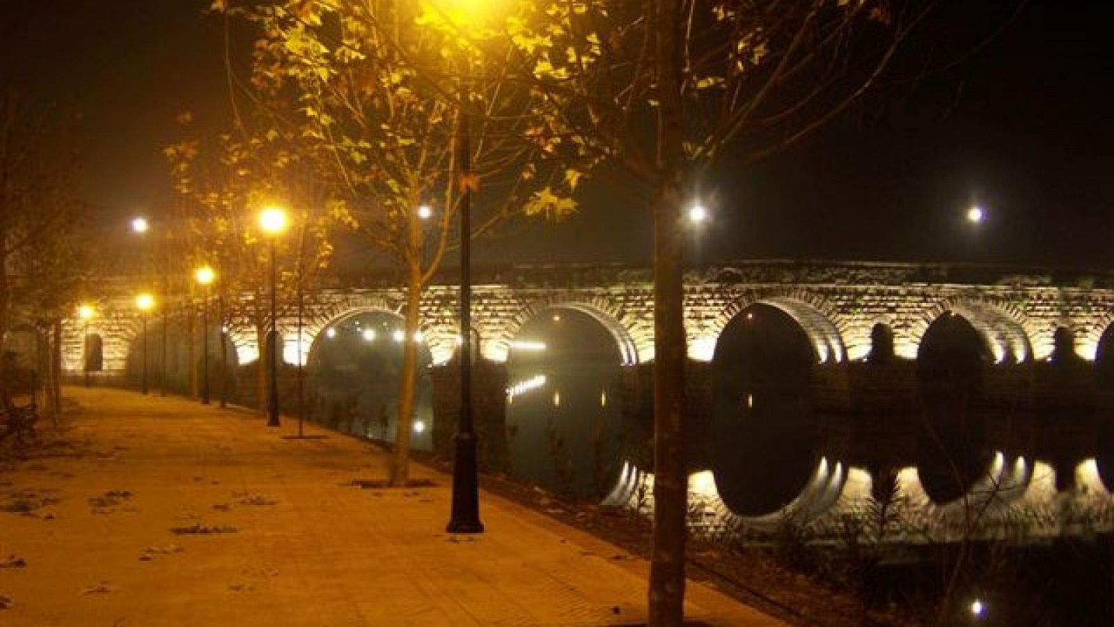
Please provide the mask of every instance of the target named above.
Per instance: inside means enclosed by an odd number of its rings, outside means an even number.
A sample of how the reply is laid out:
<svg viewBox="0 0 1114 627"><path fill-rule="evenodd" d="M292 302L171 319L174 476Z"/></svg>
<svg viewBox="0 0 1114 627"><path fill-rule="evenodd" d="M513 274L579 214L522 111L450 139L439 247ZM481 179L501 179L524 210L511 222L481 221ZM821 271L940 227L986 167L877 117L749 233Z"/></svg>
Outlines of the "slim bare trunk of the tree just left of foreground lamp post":
<svg viewBox="0 0 1114 627"><path fill-rule="evenodd" d="M411 206L417 206L412 204ZM418 305L421 300L421 222L411 211L407 220L407 314L402 338L402 380L399 383L399 415L395 421L391 485L401 488L410 479L410 434L413 430L414 379L417 377Z"/></svg>

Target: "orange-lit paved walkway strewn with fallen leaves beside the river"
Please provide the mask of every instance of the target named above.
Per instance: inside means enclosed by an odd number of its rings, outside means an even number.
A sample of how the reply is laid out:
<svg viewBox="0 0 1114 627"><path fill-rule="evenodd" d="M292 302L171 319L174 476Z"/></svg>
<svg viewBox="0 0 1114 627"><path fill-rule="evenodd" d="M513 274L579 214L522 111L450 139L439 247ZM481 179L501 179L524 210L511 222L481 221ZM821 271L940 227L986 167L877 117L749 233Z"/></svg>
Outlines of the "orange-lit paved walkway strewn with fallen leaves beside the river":
<svg viewBox="0 0 1114 627"><path fill-rule="evenodd" d="M0 465L0 626L645 621L644 561L486 493L487 532L447 534L449 478L416 465L436 485L354 486L387 476L368 444L178 398L67 396L75 446ZM780 625L688 590L692 620Z"/></svg>

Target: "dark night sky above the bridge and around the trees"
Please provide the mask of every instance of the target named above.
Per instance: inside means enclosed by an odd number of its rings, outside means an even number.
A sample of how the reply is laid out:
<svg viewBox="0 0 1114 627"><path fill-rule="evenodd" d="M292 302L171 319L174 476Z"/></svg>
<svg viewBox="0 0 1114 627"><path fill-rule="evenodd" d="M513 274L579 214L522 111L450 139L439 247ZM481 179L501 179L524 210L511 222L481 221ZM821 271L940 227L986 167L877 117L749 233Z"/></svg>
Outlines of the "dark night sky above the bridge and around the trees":
<svg viewBox="0 0 1114 627"><path fill-rule="evenodd" d="M218 127L227 100L221 21L207 0L4 0L4 83L79 108L85 187L106 219L172 197L162 148L192 110ZM912 60L990 32L1014 3L959 3ZM978 6L978 9L970 7ZM693 252L720 258L1114 262L1114 2L1030 0L960 67L901 83L786 152L709 181L715 221ZM911 60L910 60L911 59ZM984 203L974 232L962 211ZM624 208L628 209L616 209ZM649 258L644 212L588 199L580 214L480 247L481 258Z"/></svg>

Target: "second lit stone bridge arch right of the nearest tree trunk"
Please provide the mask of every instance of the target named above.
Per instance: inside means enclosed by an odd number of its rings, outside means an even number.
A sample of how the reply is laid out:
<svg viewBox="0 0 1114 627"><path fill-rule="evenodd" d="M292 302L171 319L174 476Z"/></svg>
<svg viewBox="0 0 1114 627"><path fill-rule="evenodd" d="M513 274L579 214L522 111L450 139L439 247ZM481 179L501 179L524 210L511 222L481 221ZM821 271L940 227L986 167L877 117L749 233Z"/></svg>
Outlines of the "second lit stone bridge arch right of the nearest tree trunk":
<svg viewBox="0 0 1114 627"><path fill-rule="evenodd" d="M996 363L1014 360L1024 363L1037 358L1029 341L1027 328L1035 328L1017 307L1006 302L979 299L941 300L925 309L905 326L900 338L895 329L893 350L899 357L916 359L920 343L928 327L941 316L955 314L978 332L983 344ZM1052 353L1052 332L1048 331L1047 354ZM1047 355L1044 355L1046 357Z"/></svg>

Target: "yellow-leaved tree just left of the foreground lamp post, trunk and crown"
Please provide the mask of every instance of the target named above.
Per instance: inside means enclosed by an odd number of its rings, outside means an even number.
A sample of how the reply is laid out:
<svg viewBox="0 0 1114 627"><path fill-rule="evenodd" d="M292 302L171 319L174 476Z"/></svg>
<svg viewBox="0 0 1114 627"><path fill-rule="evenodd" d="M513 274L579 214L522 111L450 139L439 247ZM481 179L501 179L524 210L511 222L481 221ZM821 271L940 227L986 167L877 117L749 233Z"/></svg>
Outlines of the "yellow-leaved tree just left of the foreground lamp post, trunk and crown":
<svg viewBox="0 0 1114 627"><path fill-rule="evenodd" d="M498 30L460 35L469 17L463 9L392 0L215 7L257 25L252 84L260 99L292 95L296 115L283 123L299 131L305 155L328 166L331 195L362 238L404 271L405 341L390 476L392 485L403 485L418 306L453 244L465 192L482 181L487 202L477 208L477 226L456 233L457 242L515 214L573 211L566 192L577 176L539 166L548 146L519 141L531 133L529 114L540 94L507 80L508 42ZM469 146L472 165L469 175L455 179L461 145ZM434 210L432 224L422 208Z"/></svg>

